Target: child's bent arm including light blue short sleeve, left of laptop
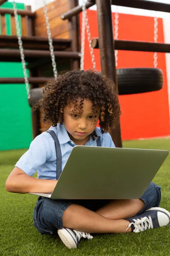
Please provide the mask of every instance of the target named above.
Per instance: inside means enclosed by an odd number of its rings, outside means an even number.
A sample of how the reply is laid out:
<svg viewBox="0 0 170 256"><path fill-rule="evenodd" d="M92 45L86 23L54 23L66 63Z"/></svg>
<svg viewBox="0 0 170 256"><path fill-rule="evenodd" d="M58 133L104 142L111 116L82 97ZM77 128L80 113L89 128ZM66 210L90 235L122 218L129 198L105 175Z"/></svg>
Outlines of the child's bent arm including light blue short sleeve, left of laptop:
<svg viewBox="0 0 170 256"><path fill-rule="evenodd" d="M56 155L53 138L48 133L38 135L25 154L16 163L15 168L6 180L6 190L14 193L52 192L57 180L37 179L34 173L46 161ZM51 149L52 148L52 149Z"/></svg>

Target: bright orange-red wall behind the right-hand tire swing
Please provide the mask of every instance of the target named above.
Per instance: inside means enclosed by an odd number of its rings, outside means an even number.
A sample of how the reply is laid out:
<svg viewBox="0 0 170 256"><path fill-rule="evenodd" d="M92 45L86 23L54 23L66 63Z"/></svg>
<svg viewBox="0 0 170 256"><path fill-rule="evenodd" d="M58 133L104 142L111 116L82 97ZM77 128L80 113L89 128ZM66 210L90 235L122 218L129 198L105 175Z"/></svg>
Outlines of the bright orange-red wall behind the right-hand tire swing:
<svg viewBox="0 0 170 256"><path fill-rule="evenodd" d="M91 38L98 37L96 11L88 10ZM113 14L114 20L114 14ZM81 21L81 15L80 15ZM154 18L119 14L119 39L153 40ZM162 19L158 19L158 42L164 42ZM99 49L94 49L97 70L100 70ZM85 69L91 68L91 56L85 39ZM118 51L118 68L153 67L153 52ZM170 135L165 54L158 53L158 68L164 74L163 89L156 92L119 96L122 105L123 140Z"/></svg>

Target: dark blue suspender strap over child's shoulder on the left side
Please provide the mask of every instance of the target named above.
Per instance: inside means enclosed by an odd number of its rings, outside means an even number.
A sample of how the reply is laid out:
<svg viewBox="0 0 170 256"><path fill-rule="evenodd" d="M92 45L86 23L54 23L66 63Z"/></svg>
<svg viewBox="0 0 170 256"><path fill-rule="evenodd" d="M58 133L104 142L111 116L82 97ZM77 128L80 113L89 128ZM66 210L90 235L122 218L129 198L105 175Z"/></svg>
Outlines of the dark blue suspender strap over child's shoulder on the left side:
<svg viewBox="0 0 170 256"><path fill-rule="evenodd" d="M47 131L54 139L55 142L55 148L56 148L56 156L57 156L57 165L56 165L56 180L59 179L59 176L61 175L61 168L62 168L62 156L61 156L61 148L59 145L59 140L57 138L57 135L54 131L48 130Z"/></svg>

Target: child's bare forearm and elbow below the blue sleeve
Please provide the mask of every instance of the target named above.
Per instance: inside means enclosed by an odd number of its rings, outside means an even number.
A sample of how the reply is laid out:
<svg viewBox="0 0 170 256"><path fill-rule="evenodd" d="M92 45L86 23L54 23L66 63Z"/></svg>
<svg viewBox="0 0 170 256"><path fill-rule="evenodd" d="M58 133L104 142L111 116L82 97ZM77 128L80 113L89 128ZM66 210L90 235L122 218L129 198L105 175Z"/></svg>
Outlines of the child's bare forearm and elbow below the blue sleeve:
<svg viewBox="0 0 170 256"><path fill-rule="evenodd" d="M14 193L52 192L58 180L41 180L30 177L15 167L6 180L6 190Z"/></svg>

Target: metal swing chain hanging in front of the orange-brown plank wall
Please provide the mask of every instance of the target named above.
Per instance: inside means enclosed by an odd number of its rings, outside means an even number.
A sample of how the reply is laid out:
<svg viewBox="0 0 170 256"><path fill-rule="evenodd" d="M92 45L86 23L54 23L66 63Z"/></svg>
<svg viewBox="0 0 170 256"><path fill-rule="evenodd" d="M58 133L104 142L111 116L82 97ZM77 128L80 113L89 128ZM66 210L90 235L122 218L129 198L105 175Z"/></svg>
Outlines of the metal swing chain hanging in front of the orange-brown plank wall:
<svg viewBox="0 0 170 256"><path fill-rule="evenodd" d="M51 36L51 29L50 29L49 18L48 18L48 9L47 9L45 0L43 0L43 3L44 3L45 23L46 23L47 35L48 35L48 44L50 46L49 49L50 49L52 67L53 67L53 72L54 72L54 78L57 79L57 65L56 65L56 61L55 61L53 40L52 40L52 36Z"/></svg>

